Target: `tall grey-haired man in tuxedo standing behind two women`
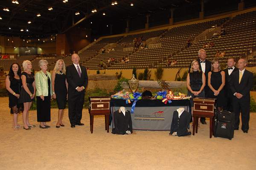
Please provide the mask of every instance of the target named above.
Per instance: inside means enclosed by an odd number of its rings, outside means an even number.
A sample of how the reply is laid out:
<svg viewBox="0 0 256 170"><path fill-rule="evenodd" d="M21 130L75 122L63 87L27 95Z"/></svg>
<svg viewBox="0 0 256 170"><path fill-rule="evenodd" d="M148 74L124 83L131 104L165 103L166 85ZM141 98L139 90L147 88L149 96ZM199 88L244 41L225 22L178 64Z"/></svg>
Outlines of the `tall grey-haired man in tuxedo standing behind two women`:
<svg viewBox="0 0 256 170"><path fill-rule="evenodd" d="M208 72L211 71L211 61L208 61L206 59L206 51L204 49L200 49L198 51L198 63L199 63L199 69L204 72L205 75L205 86L204 86L204 93L205 93L205 97L207 97L208 91L209 91L209 87L208 87ZM190 72L190 68L191 68L191 63L189 66L189 72ZM202 124L206 124L205 118L200 118L200 121Z"/></svg>

